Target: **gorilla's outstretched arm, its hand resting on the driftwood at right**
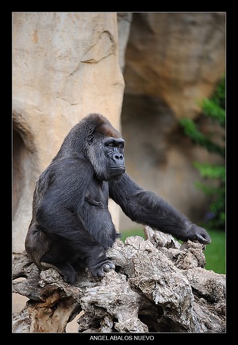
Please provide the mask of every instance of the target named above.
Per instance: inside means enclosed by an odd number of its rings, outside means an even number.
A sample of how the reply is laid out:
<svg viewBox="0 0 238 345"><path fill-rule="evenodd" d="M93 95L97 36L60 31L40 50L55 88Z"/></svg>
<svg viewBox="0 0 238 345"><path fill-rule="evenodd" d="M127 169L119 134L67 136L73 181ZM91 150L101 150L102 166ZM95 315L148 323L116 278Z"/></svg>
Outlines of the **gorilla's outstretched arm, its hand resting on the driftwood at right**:
<svg viewBox="0 0 238 345"><path fill-rule="evenodd" d="M204 244L211 242L204 228L192 224L185 215L155 193L143 190L126 173L119 181L109 182L109 193L132 221L170 233L183 241L198 239Z"/></svg>

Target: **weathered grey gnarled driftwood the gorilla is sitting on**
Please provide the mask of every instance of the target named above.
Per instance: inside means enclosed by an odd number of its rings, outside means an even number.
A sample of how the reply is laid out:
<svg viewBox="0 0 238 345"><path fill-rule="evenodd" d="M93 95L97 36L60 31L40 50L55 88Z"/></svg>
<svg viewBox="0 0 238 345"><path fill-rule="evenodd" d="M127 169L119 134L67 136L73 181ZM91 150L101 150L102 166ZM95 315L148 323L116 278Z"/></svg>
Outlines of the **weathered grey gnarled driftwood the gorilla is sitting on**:
<svg viewBox="0 0 238 345"><path fill-rule="evenodd" d="M80 312L80 333L225 332L226 279L204 269L205 246L148 227L145 235L108 251L115 271L99 282L83 272L75 286L15 255L13 292L29 300L13 315L13 332L65 332Z"/></svg>

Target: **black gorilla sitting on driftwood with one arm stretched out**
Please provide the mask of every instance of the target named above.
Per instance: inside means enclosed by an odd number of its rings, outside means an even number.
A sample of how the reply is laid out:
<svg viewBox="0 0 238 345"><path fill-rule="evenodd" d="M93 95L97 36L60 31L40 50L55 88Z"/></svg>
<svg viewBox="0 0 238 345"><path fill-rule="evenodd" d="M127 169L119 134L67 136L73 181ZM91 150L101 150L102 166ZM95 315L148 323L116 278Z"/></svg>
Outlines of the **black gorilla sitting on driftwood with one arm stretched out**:
<svg viewBox="0 0 238 345"><path fill-rule="evenodd" d="M211 242L204 228L133 181L126 173L124 146L120 133L97 113L70 130L34 190L25 248L40 270L55 268L74 284L84 268L95 279L115 269L106 256L119 236L108 198L139 224L183 241Z"/></svg>

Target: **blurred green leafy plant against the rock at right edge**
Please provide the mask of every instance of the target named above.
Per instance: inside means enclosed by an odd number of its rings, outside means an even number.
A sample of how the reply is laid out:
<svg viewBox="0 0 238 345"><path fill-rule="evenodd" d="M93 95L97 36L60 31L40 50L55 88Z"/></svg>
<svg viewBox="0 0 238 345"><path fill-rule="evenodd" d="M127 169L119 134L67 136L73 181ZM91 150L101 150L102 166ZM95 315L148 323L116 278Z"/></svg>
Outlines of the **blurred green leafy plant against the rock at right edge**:
<svg viewBox="0 0 238 345"><path fill-rule="evenodd" d="M225 129L225 77L217 85L214 95L210 99L203 99L199 106L204 117L215 121L221 128ZM226 213L226 170L225 170L225 137L217 138L209 134L204 134L199 126L192 119L184 118L179 121L184 128L184 133L190 137L192 142L206 148L222 158L222 164L199 163L195 161L193 165L199 170L201 177L209 183L197 182L197 188L200 188L210 197L209 210L204 217L204 223L210 229L225 228ZM224 131L225 132L225 131ZM219 140L217 140L219 139Z"/></svg>

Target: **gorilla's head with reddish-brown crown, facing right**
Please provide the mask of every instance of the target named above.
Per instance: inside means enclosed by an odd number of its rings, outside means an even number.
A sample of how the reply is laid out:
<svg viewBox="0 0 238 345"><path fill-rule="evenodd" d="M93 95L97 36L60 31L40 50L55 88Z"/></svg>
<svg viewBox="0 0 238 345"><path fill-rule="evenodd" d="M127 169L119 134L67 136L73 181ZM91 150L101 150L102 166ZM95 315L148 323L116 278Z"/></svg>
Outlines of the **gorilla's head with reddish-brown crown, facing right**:
<svg viewBox="0 0 238 345"><path fill-rule="evenodd" d="M54 159L75 157L90 160L95 175L101 181L119 179L126 171L125 141L100 114L84 117L68 133Z"/></svg>

